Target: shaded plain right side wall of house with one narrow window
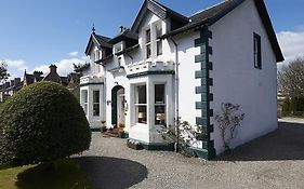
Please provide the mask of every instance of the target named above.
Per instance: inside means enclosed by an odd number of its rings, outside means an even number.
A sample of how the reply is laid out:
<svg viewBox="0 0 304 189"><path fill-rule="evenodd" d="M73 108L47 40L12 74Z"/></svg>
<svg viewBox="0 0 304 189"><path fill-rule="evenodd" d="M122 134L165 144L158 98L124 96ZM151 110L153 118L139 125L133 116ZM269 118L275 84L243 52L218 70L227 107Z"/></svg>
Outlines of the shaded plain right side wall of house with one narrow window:
<svg viewBox="0 0 304 189"><path fill-rule="evenodd" d="M252 0L244 1L209 28L213 55L214 114L221 112L222 103L240 105L244 120L238 129L232 147L244 144L277 129L277 65L267 33ZM261 36L262 69L254 68L253 32ZM216 153L223 152L223 141L217 123L214 125Z"/></svg>

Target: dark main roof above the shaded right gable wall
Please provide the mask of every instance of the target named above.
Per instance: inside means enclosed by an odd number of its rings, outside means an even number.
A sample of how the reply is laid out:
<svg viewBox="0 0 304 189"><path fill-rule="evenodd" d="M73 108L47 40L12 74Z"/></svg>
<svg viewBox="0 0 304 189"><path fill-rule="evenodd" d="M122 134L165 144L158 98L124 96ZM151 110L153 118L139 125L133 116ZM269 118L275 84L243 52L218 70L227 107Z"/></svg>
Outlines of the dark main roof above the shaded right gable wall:
<svg viewBox="0 0 304 189"><path fill-rule="evenodd" d="M170 36L175 36L190 29L198 29L202 26L211 26L222 17L224 17L226 14L232 12L234 9L236 9L238 5L240 5L242 2L244 2L244 0L226 0L222 3L215 4L214 6L196 13L189 16L190 22L188 24L175 30L169 31L168 33L163 35L161 39L168 38ZM277 37L274 31L266 5L263 0L254 0L254 3L268 35L268 39L276 55L276 60L282 62L285 58L277 41Z"/></svg>

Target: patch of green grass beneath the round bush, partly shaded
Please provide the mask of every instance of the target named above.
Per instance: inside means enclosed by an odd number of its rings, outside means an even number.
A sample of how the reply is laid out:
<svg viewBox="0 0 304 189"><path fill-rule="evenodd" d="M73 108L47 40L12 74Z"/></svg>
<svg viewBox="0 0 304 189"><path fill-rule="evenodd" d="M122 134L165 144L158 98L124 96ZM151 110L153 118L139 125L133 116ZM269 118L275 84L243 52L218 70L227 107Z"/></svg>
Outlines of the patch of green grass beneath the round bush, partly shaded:
<svg viewBox="0 0 304 189"><path fill-rule="evenodd" d="M80 167L70 159L54 166L45 164L10 167L0 165L0 188L3 189L83 189L92 188Z"/></svg>

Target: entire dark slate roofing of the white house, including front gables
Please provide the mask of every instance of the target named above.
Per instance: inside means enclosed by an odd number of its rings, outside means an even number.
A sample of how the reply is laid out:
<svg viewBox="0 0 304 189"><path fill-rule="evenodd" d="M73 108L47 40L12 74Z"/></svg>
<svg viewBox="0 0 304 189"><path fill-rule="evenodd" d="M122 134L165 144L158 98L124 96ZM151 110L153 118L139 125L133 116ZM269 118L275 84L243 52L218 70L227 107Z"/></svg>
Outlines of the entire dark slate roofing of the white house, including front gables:
<svg viewBox="0 0 304 189"><path fill-rule="evenodd" d="M98 36L95 33L92 33L91 38L95 39L100 45L105 46L105 48L111 46L111 44L119 42L121 40L131 40L133 42L136 41L136 43L137 43L138 42L137 41L138 36L136 33L137 29L141 25L141 22L145 17L146 11L149 10L162 19L167 18L168 16L171 18L171 29L172 30L160 37L160 39L164 39L164 38L169 38L171 36L180 35L182 32L185 32L185 31L188 31L191 29L199 29L204 26L211 26L244 1L246 0L225 0L219 4L215 4L209 9L206 9L191 16L186 17L186 16L171 10L170 8L167 8L166 5L163 5L159 2L156 2L155 0L145 0L140 12L137 13L137 16L131 27L131 30L125 30L113 39L109 39L109 38L103 37L103 36ZM276 60L282 62L283 60L282 52L278 44L269 15L266 10L266 5L263 0L254 0L254 3L255 3L257 12L260 14L261 21L268 35L268 39L270 41L272 48L276 54ZM92 41L91 38L90 38L90 41ZM90 48L90 44L91 44L90 41L89 41L89 44L85 50L87 55L89 53L88 49ZM134 44L132 43L131 45L129 45L127 48L132 48L136 43L134 43ZM105 58L98 60L98 63L102 60L109 59L111 57L113 57L113 55L107 55Z"/></svg>

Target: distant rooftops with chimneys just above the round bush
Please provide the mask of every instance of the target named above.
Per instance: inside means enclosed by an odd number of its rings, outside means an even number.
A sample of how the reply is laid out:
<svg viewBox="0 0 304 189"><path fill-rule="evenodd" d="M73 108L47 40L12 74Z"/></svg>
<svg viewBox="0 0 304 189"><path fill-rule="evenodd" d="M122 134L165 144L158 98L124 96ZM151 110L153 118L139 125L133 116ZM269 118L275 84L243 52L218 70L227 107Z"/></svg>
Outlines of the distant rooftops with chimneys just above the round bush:
<svg viewBox="0 0 304 189"><path fill-rule="evenodd" d="M32 75L29 75L26 72L24 72L24 80L23 80L23 85L27 86L31 83L35 82L39 82L39 81L53 81L56 83L61 83L64 86L68 85L68 77L61 77L57 73L57 67L56 65L50 65L50 72L43 77L43 72L42 71L34 71Z"/></svg>

